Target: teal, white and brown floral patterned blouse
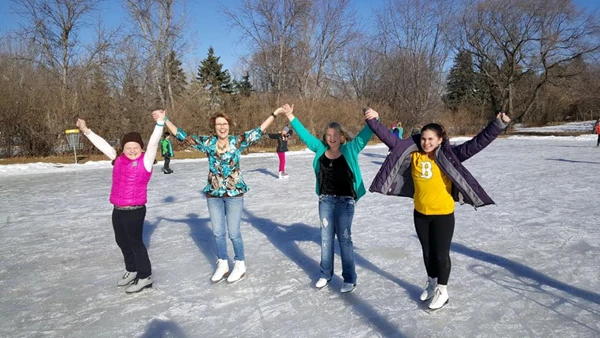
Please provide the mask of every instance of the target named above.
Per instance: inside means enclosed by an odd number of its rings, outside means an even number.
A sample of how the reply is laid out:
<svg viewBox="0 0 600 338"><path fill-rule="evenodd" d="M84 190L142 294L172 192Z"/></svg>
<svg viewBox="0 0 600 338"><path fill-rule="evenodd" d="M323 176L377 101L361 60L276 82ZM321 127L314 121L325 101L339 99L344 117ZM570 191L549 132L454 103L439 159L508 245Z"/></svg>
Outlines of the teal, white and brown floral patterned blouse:
<svg viewBox="0 0 600 338"><path fill-rule="evenodd" d="M177 139L185 140L188 135L177 129ZM247 192L248 186L242 178L240 157L246 148L255 144L263 136L260 127L244 133L243 136L228 136L229 149L219 154L217 152L216 136L190 135L196 148L208 157L208 182L202 192L214 197L234 197Z"/></svg>

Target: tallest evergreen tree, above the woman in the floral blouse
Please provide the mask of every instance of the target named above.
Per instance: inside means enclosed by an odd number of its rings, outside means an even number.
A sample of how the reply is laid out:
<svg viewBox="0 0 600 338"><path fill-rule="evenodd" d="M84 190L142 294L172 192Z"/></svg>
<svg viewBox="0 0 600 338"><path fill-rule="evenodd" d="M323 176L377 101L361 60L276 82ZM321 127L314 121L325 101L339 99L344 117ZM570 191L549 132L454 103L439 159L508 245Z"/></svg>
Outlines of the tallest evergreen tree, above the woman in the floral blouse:
<svg viewBox="0 0 600 338"><path fill-rule="evenodd" d="M229 71L223 70L219 59L221 57L215 56L212 46L208 48L208 56L200 63L196 76L196 80L210 93L211 101L215 104L221 102L223 94L231 94L234 89Z"/></svg>

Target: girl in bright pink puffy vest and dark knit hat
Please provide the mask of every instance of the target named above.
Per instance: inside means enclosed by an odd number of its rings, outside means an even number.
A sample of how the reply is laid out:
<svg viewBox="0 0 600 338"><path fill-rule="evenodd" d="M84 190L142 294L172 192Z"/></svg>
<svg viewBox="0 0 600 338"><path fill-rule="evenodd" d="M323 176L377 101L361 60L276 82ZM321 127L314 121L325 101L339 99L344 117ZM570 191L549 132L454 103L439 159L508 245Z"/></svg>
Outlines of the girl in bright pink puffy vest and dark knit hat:
<svg viewBox="0 0 600 338"><path fill-rule="evenodd" d="M110 191L110 203L114 205L112 223L117 245L125 259L126 270L117 285L127 286L127 293L152 287L152 268L142 240L142 232L146 217L148 182L152 177L152 165L163 126L163 120L156 121L145 152L140 134L131 132L123 136L121 150L117 153L106 140L91 131L84 120L77 119L79 130L98 150L113 160Z"/></svg>

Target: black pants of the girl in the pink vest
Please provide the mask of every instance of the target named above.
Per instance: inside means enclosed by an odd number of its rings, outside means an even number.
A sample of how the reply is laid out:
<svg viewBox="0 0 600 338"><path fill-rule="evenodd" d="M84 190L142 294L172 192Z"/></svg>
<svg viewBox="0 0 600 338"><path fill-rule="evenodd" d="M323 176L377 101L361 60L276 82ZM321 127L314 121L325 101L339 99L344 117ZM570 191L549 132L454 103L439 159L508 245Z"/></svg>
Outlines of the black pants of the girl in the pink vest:
<svg viewBox="0 0 600 338"><path fill-rule="evenodd" d="M113 209L115 240L125 259L125 269L136 272L138 278L152 274L148 251L142 240L146 207L133 210Z"/></svg>

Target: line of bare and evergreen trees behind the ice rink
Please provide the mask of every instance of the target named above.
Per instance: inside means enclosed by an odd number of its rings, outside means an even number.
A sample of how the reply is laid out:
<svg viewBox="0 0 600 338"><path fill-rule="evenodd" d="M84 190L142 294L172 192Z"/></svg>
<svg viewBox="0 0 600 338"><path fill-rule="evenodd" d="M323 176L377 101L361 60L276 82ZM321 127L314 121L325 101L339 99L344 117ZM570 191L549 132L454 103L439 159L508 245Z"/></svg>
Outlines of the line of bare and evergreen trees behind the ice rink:
<svg viewBox="0 0 600 338"><path fill-rule="evenodd" d="M387 124L436 121L451 134L500 110L539 125L600 117L598 13L572 0L386 0L361 16L350 0L240 0L218 28L247 47L237 79L212 47L194 74L183 70L196 19L185 1L124 0L117 27L102 23L101 4L11 0L22 27L0 40L0 156L64 151L76 116L114 142L145 135L156 108L198 133L215 112L239 132L286 102L313 132L329 120L358 131L364 106Z"/></svg>

